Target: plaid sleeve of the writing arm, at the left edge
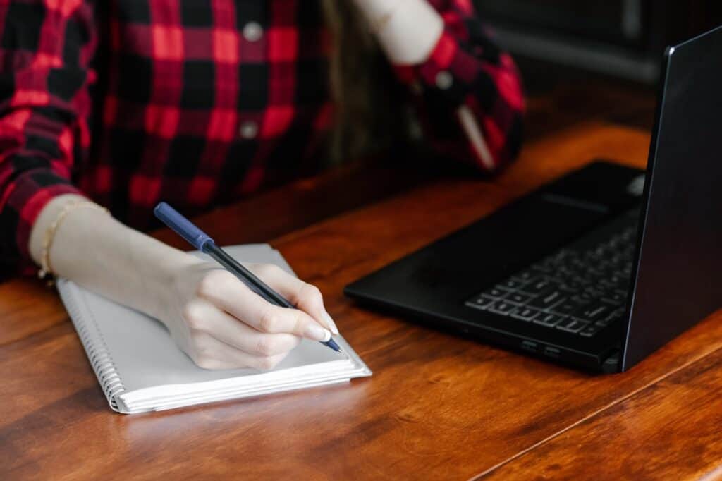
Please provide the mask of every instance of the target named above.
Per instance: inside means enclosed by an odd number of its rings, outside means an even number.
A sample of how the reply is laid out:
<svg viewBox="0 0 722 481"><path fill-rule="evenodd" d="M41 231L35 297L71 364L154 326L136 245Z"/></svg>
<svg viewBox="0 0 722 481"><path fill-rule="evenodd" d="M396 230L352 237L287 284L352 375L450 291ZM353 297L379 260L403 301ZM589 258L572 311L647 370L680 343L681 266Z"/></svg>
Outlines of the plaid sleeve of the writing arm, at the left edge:
<svg viewBox="0 0 722 481"><path fill-rule="evenodd" d="M92 7L82 0L0 3L0 264L29 266L35 218L71 186L90 144Z"/></svg>

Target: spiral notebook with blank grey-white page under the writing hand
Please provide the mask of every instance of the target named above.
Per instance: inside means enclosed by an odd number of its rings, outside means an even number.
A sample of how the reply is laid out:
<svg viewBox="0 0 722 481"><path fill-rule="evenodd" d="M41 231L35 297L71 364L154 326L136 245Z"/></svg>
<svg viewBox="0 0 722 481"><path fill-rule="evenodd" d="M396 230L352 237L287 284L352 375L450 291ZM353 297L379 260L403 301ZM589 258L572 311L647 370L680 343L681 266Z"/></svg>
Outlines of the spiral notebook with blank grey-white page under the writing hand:
<svg viewBox="0 0 722 481"><path fill-rule="evenodd" d="M277 264L293 273L283 256L267 244L232 246L226 250L238 261ZM342 353L304 339L272 371L208 371L196 366L175 345L159 321L69 280L58 281L58 292L105 397L117 412L169 410L371 375L341 336L334 339Z"/></svg>

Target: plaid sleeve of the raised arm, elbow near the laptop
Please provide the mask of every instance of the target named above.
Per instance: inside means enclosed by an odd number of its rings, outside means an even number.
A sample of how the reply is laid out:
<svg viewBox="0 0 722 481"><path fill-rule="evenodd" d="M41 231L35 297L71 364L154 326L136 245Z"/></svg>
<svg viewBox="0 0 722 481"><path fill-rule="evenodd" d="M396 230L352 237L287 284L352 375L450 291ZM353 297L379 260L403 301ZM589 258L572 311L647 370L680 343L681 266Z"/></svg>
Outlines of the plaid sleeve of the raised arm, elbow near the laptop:
<svg viewBox="0 0 722 481"><path fill-rule="evenodd" d="M521 77L490 38L471 0L429 0L445 28L423 64L396 66L425 139L443 155L493 172L521 147Z"/></svg>

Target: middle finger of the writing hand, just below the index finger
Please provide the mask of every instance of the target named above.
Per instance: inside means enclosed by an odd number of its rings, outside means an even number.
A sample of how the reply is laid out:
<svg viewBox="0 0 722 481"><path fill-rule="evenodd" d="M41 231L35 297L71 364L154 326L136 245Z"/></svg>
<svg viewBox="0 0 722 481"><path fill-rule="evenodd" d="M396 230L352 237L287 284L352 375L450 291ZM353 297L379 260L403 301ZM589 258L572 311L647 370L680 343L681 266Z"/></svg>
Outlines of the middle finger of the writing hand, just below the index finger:
<svg viewBox="0 0 722 481"><path fill-rule="evenodd" d="M293 334L258 332L205 300L196 300L186 309L186 322L191 329L211 334L219 341L253 356L285 354L300 342L300 338Z"/></svg>

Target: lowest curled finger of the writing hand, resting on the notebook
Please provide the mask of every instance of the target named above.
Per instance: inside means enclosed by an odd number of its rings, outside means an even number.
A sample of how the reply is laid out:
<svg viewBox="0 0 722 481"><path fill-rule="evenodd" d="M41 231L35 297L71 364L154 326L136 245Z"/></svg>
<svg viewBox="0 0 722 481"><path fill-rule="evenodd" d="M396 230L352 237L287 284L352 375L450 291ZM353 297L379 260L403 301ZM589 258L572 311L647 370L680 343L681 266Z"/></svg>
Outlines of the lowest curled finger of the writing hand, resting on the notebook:
<svg viewBox="0 0 722 481"><path fill-rule="evenodd" d="M254 356L221 342L211 334L194 335L191 358L204 369L256 368L264 371L275 368L288 354Z"/></svg>

